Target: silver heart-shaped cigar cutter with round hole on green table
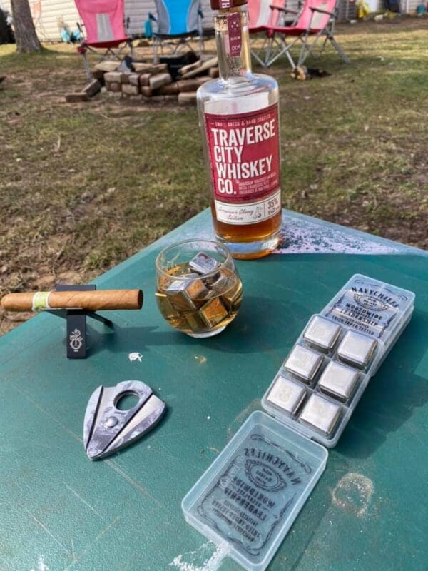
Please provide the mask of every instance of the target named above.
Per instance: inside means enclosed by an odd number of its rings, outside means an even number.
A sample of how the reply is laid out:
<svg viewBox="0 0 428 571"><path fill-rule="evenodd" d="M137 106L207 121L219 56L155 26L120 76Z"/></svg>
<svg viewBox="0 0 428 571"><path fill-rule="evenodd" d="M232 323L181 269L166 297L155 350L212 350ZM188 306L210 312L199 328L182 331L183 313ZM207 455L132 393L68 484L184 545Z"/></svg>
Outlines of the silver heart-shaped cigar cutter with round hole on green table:
<svg viewBox="0 0 428 571"><path fill-rule="evenodd" d="M116 408L126 395L138 403L129 410ZM165 403L141 380L124 380L114 387L99 386L91 395L83 421L83 443L91 460L125 448L151 430L165 412Z"/></svg>

